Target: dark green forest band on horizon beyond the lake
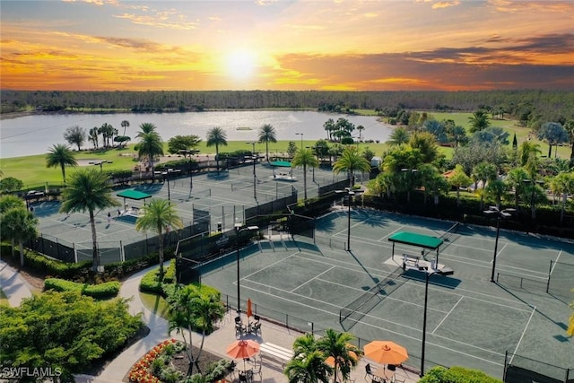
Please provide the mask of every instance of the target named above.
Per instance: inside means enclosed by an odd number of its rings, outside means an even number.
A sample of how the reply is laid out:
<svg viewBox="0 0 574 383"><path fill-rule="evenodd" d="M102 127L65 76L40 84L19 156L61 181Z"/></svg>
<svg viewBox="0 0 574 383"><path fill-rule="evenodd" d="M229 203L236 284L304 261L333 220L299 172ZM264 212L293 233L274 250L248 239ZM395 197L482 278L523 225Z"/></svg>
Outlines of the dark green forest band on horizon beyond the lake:
<svg viewBox="0 0 574 383"><path fill-rule="evenodd" d="M206 109L317 109L353 113L373 109L473 111L519 121L574 118L574 91L2 91L2 113L187 112Z"/></svg>

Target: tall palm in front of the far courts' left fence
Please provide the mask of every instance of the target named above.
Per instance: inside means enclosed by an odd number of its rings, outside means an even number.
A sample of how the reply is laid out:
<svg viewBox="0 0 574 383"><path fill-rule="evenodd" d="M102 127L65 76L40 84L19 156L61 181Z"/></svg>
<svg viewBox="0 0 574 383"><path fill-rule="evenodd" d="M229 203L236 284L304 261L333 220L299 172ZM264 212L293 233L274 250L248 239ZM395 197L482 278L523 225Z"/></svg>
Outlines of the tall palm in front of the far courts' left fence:
<svg viewBox="0 0 574 383"><path fill-rule="evenodd" d="M93 271L98 272L100 255L98 254L98 239L96 236L96 221L94 212L109 207L118 206L111 196L111 183L106 173L90 168L76 171L70 178L70 183L62 193L60 213L88 211L90 215Z"/></svg>

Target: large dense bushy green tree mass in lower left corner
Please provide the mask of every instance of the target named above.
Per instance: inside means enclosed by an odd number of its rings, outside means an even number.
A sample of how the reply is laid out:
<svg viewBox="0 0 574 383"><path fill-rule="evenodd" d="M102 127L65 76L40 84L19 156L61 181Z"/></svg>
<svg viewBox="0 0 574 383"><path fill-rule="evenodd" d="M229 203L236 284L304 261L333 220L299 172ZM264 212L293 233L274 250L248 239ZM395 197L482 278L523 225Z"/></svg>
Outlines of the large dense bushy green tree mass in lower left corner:
<svg viewBox="0 0 574 383"><path fill-rule="evenodd" d="M58 381L74 381L106 355L121 349L142 326L127 300L97 301L80 292L44 292L3 307L0 353L4 366L60 369ZM30 381L30 380L26 380Z"/></svg>

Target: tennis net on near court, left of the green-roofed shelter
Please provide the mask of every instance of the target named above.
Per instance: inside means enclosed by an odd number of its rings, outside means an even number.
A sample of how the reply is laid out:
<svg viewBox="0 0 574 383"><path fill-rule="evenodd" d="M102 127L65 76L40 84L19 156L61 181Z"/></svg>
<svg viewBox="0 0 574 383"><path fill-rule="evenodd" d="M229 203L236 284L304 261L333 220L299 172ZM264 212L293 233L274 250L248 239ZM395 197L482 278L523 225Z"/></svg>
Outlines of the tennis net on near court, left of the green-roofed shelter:
<svg viewBox="0 0 574 383"><path fill-rule="evenodd" d="M398 280L402 274L403 269L397 267L391 274L388 274L387 278L379 281L367 292L363 292L359 298L352 300L351 303L347 304L343 309L340 309L339 322L344 326L345 330L354 326L354 324L367 315L371 309L374 309L381 300L384 300L392 292L395 292L396 289L404 283L404 281Z"/></svg>

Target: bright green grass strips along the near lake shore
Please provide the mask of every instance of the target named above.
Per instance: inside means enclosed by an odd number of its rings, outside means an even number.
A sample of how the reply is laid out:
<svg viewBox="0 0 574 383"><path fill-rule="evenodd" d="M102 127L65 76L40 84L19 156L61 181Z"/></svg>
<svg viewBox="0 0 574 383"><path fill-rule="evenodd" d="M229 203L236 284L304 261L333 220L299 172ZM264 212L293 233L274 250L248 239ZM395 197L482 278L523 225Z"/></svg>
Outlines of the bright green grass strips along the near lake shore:
<svg viewBox="0 0 574 383"><path fill-rule="evenodd" d="M374 110L359 109L357 111L361 115L372 116L375 115ZM437 120L443 119L453 119L457 125L465 126L468 129L469 122L468 118L472 116L472 113L442 113L434 112L430 113L431 117ZM509 132L509 140L512 141L512 136L516 133L518 144L521 144L527 140L529 129L526 127L517 126L516 120L491 120L491 126L500 126ZM165 137L164 137L165 138ZM299 147L300 140L293 140L295 144ZM548 151L548 145L543 142L534 140L535 143L540 144L540 150L543 155ZM316 141L303 140L303 146L313 146ZM136 153L134 151L135 144L127 145L123 149L110 149L105 152L78 152L76 153L77 160L96 160L96 161L112 161L111 163L105 163L103 165L104 170L130 170L134 168L137 164L135 159ZM289 146L289 141L279 141L275 144L269 144L269 153L273 155L274 153L286 152ZM375 155L380 156L388 148L388 144L361 144L361 150L369 147ZM167 143L164 144L164 152L167 151ZM207 147L205 142L202 142L197 149L203 154L213 154L215 148ZM235 152L237 150L250 150L251 145L246 144L242 141L230 141L227 146L220 148L220 152ZM265 144L256 144L257 152L265 152ZM439 151L446 155L449 159L452 156L452 149L446 147L439 147ZM554 149L552 149L554 152ZM558 148L558 156L561 158L570 158L570 147L560 146ZM50 183L58 184L62 182L62 171L60 169L48 169L46 168L46 155L34 155L27 157L16 157L9 159L0 160L1 169L4 173L3 177L14 177L21 179L24 183L24 187L33 186ZM67 170L68 172L74 170Z"/></svg>

